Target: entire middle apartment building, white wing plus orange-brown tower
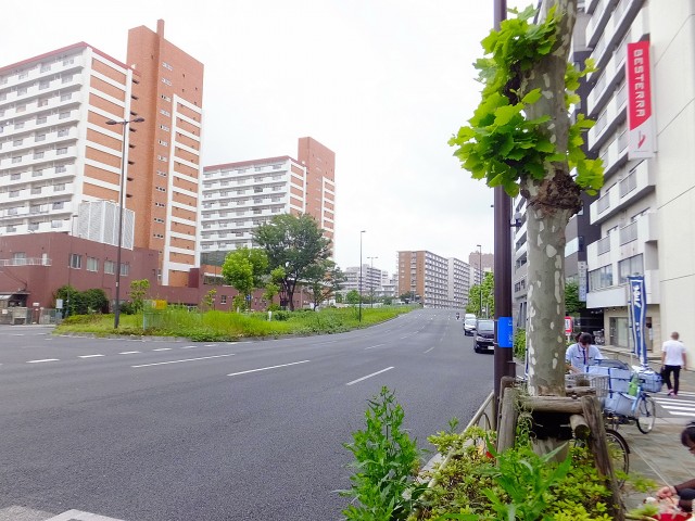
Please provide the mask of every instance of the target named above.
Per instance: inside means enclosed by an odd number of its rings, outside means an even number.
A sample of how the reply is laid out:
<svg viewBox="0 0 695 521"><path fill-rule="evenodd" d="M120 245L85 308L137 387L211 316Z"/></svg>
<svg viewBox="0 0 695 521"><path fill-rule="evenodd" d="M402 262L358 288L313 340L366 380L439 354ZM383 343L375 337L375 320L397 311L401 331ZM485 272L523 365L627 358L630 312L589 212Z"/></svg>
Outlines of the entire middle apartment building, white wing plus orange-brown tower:
<svg viewBox="0 0 695 521"><path fill-rule="evenodd" d="M252 231L274 215L309 214L327 238L334 237L334 154L312 138L301 138L299 157L283 155L203 169L203 264L222 264L228 252L252 247Z"/></svg>

